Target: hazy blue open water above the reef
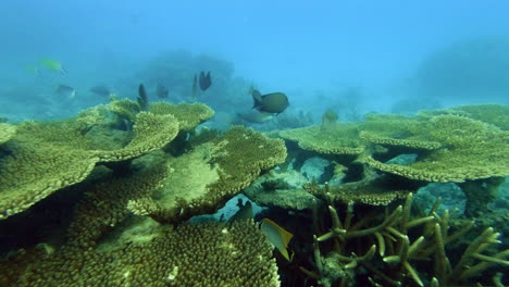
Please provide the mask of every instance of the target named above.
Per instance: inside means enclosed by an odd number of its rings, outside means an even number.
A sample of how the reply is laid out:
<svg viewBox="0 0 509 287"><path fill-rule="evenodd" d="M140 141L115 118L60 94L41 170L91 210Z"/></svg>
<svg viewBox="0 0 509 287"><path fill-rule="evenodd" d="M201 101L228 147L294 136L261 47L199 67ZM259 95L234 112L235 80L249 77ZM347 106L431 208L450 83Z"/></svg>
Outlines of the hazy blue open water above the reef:
<svg viewBox="0 0 509 287"><path fill-rule="evenodd" d="M104 101L88 92L98 84L132 97L128 87L136 93L147 80L140 71L172 51L226 62L228 77L262 93L284 91L291 109L313 113L342 114L345 104L360 113L414 104L411 112L509 98L507 1L3 0L0 8L0 115L14 121L58 117L58 85L76 89L74 112ZM41 59L69 73L37 75L30 70ZM178 90L170 84L184 85L166 83L170 93ZM351 88L360 96L349 96ZM247 92L224 97L251 104Z"/></svg>

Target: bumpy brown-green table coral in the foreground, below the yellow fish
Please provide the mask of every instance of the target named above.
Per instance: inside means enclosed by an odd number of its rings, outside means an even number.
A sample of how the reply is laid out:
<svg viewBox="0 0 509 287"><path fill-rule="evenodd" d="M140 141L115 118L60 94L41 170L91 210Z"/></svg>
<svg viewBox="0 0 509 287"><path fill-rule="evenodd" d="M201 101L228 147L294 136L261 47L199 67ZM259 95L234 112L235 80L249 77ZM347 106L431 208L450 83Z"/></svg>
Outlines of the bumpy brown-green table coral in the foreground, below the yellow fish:
<svg viewBox="0 0 509 287"><path fill-rule="evenodd" d="M0 261L2 286L280 286L272 246L250 221L161 228L109 249L20 251Z"/></svg>

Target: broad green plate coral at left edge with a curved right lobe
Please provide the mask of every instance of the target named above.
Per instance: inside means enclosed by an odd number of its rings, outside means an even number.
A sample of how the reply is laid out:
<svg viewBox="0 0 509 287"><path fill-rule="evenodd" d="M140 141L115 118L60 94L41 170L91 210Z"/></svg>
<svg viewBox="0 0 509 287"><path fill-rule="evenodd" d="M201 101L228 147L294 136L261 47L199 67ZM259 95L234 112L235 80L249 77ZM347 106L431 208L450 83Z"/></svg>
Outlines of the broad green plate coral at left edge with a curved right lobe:
<svg viewBox="0 0 509 287"><path fill-rule="evenodd" d="M172 115L139 113L134 138L124 148L101 150L89 140L78 121L18 125L5 144L9 155L0 162L0 219L28 209L64 187L84 180L98 162L133 159L163 148L178 132Z"/></svg>

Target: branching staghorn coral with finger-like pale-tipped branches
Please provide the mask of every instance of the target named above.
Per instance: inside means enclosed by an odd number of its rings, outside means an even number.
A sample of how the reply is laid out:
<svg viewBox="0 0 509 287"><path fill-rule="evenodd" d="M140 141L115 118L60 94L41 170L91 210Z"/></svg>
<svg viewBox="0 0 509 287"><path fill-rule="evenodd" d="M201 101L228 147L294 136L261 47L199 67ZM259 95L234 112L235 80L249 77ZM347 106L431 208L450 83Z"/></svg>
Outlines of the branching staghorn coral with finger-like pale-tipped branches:
<svg viewBox="0 0 509 287"><path fill-rule="evenodd" d="M424 286L425 282L432 286L463 286L492 265L509 265L505 260L509 250L494 255L481 254L499 244L493 228L469 244L454 262L447 247L458 242L472 227L472 222L449 234L449 212L439 216L438 204L436 202L427 215L413 219L411 194L404 205L386 211L383 219L376 212L359 216L353 204L347 207L342 219L330 205L332 227L314 237L315 270L301 267L301 271L323 286L356 286L360 282L373 286ZM319 221L315 210L315 225L320 225ZM458 252L457 248L454 252ZM364 272L356 271L359 267Z"/></svg>

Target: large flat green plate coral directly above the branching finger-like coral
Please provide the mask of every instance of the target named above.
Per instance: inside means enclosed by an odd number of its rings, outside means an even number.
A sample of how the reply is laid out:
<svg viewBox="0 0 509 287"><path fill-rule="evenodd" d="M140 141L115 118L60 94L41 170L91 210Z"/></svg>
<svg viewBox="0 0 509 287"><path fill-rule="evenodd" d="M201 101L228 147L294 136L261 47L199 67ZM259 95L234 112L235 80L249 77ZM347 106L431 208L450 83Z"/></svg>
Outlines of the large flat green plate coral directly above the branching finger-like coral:
<svg viewBox="0 0 509 287"><path fill-rule="evenodd" d="M413 163L399 165L368 158L380 171L426 182L464 182L509 175L509 134L463 116L437 115L419 124L421 137L442 145ZM413 132L413 133L415 133ZM390 142L385 142L392 147Z"/></svg>

